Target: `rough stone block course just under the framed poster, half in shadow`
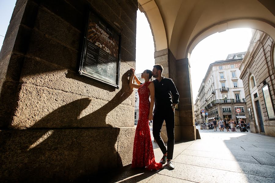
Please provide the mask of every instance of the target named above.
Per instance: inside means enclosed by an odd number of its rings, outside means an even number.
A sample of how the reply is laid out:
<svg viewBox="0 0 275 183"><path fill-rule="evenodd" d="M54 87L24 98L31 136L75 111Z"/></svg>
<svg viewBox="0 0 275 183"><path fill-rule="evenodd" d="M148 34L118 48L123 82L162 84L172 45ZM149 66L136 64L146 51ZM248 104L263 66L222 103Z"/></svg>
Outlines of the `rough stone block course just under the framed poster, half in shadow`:
<svg viewBox="0 0 275 183"><path fill-rule="evenodd" d="M120 64L119 89L37 59L25 59L20 81L134 106L134 96L131 95L132 89L128 86L128 70L132 66L128 63L121 62Z"/></svg>

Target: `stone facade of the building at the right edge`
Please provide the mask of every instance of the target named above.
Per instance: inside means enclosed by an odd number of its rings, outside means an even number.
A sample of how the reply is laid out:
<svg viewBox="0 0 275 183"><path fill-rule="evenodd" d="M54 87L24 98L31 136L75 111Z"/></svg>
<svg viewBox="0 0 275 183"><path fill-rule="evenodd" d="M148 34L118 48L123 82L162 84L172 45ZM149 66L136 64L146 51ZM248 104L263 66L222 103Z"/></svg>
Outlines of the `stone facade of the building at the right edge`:
<svg viewBox="0 0 275 183"><path fill-rule="evenodd" d="M275 104L275 78L274 78L274 65L273 65L273 49L274 49L274 40L266 33L263 33L256 43L253 53L250 54L246 68L242 71L244 73L241 77L244 83L244 92L246 96L247 108L251 108L252 119L247 119L247 122L250 122L251 132L260 133L259 124L255 123L255 109L252 106L252 103L256 100L259 100L263 123L264 131L266 135L275 136L275 119L269 119L266 112L266 105L264 97L262 94L262 82L265 80L269 84L271 98L273 105ZM257 85L259 96L256 99L251 98L250 91L250 76L251 74L255 77L255 82Z"/></svg>

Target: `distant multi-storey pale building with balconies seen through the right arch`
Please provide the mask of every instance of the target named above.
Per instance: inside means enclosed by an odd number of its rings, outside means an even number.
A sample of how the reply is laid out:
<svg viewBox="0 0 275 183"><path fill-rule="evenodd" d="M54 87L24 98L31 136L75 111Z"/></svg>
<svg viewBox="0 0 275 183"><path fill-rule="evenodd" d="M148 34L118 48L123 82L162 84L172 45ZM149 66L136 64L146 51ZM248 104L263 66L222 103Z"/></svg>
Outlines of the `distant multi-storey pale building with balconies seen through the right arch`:
<svg viewBox="0 0 275 183"><path fill-rule="evenodd" d="M208 113L205 117L201 113L200 117L196 117L202 119L201 123L221 118L236 121L242 118L246 121L248 111L239 70L244 54L229 54L229 59L210 64L196 99L200 106L198 112L204 109ZM241 109L240 113L236 112L237 108Z"/></svg>

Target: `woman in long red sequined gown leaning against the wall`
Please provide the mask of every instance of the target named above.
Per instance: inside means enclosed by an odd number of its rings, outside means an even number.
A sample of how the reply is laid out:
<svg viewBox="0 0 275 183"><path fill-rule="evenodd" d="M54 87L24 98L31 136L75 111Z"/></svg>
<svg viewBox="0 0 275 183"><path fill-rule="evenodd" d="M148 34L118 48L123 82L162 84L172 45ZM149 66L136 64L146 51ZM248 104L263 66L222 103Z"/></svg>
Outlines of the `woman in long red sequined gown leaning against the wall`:
<svg viewBox="0 0 275 183"><path fill-rule="evenodd" d="M153 106L155 98L155 87L151 82L152 71L145 70L141 74L141 78L145 79L144 84L141 84L134 72L135 70L131 69L129 85L130 87L138 88L139 118L134 139L132 168L146 167L148 170L158 170L162 168L162 164L156 163L155 161L149 128L149 120L153 119ZM134 77L138 84L134 84ZM149 96L151 96L151 101L149 101Z"/></svg>

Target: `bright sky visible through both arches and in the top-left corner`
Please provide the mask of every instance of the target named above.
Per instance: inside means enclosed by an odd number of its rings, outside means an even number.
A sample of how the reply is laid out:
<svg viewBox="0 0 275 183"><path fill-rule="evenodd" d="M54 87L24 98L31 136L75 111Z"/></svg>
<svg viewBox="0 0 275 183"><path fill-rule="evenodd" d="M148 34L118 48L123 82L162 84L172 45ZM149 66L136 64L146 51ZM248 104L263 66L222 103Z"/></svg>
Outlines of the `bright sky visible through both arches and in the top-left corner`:
<svg viewBox="0 0 275 183"><path fill-rule="evenodd" d="M5 36L16 0L0 0L0 35ZM0 36L2 47L4 38ZM247 50L252 32L248 28L230 29L215 33L200 41L190 57L193 100L196 99L200 84L208 66L216 60L224 60L230 53ZM136 74L153 69L154 41L144 13L137 12Z"/></svg>

